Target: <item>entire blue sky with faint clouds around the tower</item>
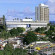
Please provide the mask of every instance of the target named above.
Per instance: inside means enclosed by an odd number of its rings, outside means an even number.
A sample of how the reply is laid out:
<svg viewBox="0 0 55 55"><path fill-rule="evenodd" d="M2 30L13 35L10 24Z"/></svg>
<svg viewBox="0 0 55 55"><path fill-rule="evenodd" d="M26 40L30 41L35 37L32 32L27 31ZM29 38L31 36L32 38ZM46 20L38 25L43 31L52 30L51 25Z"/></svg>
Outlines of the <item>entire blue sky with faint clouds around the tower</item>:
<svg viewBox="0 0 55 55"><path fill-rule="evenodd" d="M55 0L0 0L0 17L7 20L25 17L35 20L35 7L40 3L49 6L49 21L55 21Z"/></svg>

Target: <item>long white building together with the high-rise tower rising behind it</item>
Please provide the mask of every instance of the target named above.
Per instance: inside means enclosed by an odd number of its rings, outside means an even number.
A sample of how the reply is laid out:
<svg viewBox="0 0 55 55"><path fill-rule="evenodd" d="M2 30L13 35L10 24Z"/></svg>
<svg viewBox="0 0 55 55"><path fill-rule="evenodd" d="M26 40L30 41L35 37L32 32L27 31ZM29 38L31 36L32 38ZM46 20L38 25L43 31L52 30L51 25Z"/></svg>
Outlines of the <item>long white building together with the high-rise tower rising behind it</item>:
<svg viewBox="0 0 55 55"><path fill-rule="evenodd" d="M35 30L38 27L46 27L49 23L49 8L47 5L40 4L35 8L35 18L33 21L31 18L25 18L23 20L6 21L7 30L12 28L24 27L25 29Z"/></svg>

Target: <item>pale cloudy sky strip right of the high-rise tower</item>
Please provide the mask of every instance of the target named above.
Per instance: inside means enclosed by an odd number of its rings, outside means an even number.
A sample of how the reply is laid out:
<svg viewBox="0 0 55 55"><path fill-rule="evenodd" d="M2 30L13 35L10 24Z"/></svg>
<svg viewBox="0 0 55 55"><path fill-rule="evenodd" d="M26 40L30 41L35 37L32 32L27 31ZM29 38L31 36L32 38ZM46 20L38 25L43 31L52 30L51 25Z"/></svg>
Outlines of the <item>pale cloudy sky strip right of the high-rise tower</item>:
<svg viewBox="0 0 55 55"><path fill-rule="evenodd" d="M55 0L48 0L46 4L49 6L50 21L55 21Z"/></svg>

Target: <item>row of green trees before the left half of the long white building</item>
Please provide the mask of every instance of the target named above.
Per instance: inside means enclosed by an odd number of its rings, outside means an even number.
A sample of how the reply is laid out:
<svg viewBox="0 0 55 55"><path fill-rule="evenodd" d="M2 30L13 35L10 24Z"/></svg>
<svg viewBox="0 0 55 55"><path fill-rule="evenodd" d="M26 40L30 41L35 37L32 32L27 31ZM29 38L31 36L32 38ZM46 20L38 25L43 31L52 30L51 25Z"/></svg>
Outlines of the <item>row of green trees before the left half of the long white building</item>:
<svg viewBox="0 0 55 55"><path fill-rule="evenodd" d="M21 27L13 28L10 31L3 30L0 33L0 38L8 39L9 37L20 36L24 31L25 29Z"/></svg>

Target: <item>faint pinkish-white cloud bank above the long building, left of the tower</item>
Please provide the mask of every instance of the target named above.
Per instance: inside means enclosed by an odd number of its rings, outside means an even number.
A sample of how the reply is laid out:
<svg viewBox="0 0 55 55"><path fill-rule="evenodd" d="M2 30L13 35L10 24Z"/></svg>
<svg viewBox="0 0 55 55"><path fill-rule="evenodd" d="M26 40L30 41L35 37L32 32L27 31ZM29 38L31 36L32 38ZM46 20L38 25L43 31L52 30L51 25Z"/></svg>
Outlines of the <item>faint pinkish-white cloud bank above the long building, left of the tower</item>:
<svg viewBox="0 0 55 55"><path fill-rule="evenodd" d="M8 19L13 19L13 18L25 18L29 17L32 18L35 15L35 12L33 12L29 7L24 8L23 11L17 11L17 10L7 10L6 17Z"/></svg>

